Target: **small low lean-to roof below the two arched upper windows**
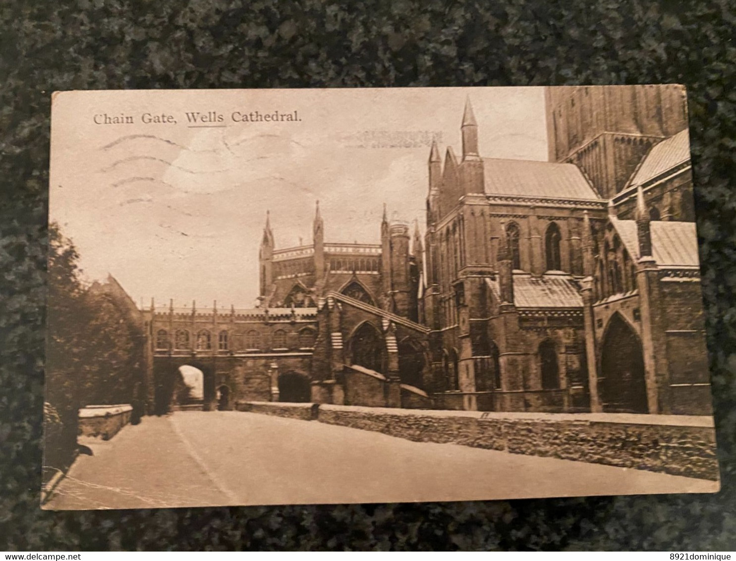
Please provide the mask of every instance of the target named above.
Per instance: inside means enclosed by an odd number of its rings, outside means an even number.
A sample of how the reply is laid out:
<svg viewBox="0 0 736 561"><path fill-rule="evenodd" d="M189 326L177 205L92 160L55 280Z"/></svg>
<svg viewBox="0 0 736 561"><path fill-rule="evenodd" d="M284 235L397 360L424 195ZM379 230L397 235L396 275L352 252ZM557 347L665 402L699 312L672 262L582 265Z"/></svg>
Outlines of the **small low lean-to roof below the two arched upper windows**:
<svg viewBox="0 0 736 561"><path fill-rule="evenodd" d="M498 280L487 280L500 297ZM570 275L545 273L533 277L528 273L514 273L514 306L517 308L581 308L583 298L578 284Z"/></svg>

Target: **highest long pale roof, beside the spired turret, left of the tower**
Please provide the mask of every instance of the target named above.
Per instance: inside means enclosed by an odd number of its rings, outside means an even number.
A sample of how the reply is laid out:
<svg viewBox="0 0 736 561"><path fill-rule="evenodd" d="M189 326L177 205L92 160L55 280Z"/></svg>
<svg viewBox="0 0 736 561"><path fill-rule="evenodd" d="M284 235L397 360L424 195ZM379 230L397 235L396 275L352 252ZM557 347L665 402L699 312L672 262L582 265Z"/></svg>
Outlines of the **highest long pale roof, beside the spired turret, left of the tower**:
<svg viewBox="0 0 736 561"><path fill-rule="evenodd" d="M486 194L551 199L599 199L573 163L483 158Z"/></svg>

